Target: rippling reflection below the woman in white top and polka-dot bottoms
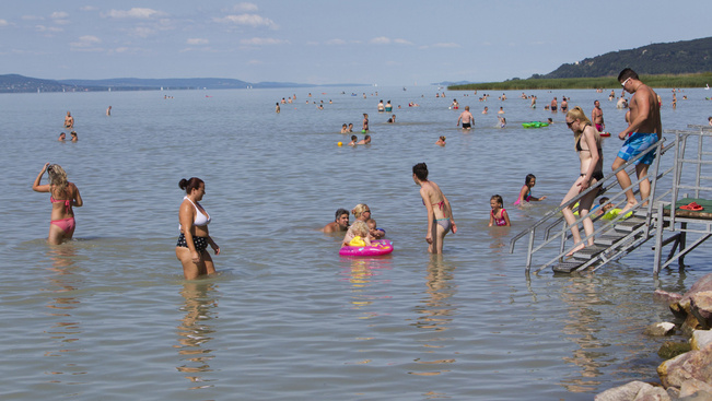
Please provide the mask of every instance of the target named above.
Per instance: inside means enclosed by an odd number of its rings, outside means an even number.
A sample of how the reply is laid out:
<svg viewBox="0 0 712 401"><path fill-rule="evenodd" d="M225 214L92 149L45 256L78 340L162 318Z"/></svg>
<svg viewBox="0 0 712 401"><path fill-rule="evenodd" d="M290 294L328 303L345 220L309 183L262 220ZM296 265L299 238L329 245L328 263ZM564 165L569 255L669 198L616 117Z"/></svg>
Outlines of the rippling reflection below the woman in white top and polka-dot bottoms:
<svg viewBox="0 0 712 401"><path fill-rule="evenodd" d="M190 387L190 390L213 387L206 382L212 381L203 378L203 374L212 371L210 359L214 357L213 350L207 347L212 340L214 329L210 321L218 317L218 300L215 299L214 283L186 282L180 291L185 299L180 310L185 311L180 325L178 325L178 349L182 365L176 369L186 374L185 378L198 384Z"/></svg>

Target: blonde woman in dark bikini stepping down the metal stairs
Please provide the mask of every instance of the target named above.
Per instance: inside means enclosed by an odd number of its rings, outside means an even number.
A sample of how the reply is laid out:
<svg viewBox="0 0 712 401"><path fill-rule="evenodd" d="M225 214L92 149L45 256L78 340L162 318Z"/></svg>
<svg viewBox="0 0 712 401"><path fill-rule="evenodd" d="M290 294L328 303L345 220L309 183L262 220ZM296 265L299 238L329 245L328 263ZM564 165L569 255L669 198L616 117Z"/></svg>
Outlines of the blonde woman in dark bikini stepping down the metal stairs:
<svg viewBox="0 0 712 401"><path fill-rule="evenodd" d="M572 198L576 197L579 193L585 191L592 185L596 184L598 180L604 178L603 173L603 163L604 157L600 153L600 135L598 130L593 127L591 120L583 113L581 107L576 106L567 113L567 127L573 131L574 138L574 149L579 153L580 160L580 175L579 178L573 182L571 189L561 201L561 204L565 204ZM579 201L579 215L585 217L583 220L583 229L586 233L586 236L590 236L594 232L593 222L588 216L588 211L593 204L594 199L598 191L591 191L586 193L585 197L581 198ZM579 224L574 224L576 217L573 215L573 204L564 208L561 213L567 221L567 224L571 226L571 235L573 236L573 241L575 247L568 256L572 255L576 250L583 249L586 245L581 240L581 235L579 234ZM588 238L588 245L594 245L594 238Z"/></svg>

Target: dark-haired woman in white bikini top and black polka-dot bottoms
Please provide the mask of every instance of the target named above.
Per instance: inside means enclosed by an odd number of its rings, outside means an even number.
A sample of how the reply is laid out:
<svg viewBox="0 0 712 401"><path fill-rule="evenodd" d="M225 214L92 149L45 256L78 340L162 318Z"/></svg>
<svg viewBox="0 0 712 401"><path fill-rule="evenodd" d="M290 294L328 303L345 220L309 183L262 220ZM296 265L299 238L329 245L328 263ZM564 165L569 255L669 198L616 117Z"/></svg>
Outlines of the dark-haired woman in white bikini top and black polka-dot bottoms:
<svg viewBox="0 0 712 401"><path fill-rule="evenodd" d="M183 263L183 275L187 280L192 280L215 272L215 266L207 249L210 245L215 255L220 255L220 247L208 233L210 215L198 203L206 194L206 184L200 178L191 177L183 178L178 187L186 191L186 196L178 211L180 236L175 247L175 255Z"/></svg>

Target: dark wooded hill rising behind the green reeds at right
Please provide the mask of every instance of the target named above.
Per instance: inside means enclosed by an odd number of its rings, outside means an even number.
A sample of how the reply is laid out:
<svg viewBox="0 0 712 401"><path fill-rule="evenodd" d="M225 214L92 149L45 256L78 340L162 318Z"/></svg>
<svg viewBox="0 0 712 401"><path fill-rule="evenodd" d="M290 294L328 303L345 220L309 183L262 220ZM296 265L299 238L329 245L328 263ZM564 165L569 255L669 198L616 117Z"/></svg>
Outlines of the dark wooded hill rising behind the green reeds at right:
<svg viewBox="0 0 712 401"><path fill-rule="evenodd" d="M562 64L548 74L534 74L532 79L618 76L626 67L646 75L710 72L712 37L611 51L572 64Z"/></svg>

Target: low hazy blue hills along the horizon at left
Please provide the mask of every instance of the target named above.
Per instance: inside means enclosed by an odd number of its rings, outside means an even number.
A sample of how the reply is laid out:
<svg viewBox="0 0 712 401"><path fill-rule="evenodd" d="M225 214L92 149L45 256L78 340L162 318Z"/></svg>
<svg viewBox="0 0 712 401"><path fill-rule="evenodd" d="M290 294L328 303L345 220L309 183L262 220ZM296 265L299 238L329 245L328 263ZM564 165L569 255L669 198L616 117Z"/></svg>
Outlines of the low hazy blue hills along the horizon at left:
<svg viewBox="0 0 712 401"><path fill-rule="evenodd" d="M360 84L343 84L349 86ZM17 74L0 75L0 93L21 92L106 92L106 91L157 91L164 90L234 90L259 87L320 86L292 82L250 83L227 78L167 78L139 79L116 78L107 80L40 80ZM326 85L337 86L337 85Z"/></svg>

